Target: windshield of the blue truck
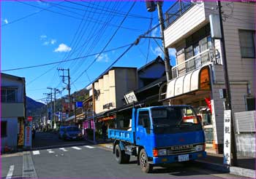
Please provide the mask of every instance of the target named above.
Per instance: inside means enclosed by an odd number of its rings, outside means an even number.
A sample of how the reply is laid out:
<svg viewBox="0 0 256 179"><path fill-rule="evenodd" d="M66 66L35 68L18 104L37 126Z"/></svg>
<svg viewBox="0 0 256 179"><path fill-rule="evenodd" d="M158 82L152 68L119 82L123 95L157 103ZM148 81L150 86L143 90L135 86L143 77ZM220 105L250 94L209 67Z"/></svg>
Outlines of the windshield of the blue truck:
<svg viewBox="0 0 256 179"><path fill-rule="evenodd" d="M202 130L195 112L189 106L152 108L154 133L189 132Z"/></svg>

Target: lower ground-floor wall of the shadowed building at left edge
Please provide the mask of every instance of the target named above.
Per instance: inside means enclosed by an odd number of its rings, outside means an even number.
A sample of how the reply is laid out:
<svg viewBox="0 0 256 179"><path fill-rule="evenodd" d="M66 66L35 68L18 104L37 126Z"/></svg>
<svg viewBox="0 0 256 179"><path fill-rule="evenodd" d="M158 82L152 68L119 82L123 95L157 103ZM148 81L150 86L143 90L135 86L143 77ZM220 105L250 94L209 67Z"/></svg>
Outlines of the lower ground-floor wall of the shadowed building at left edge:
<svg viewBox="0 0 256 179"><path fill-rule="evenodd" d="M2 122L7 122L7 136L1 137L1 151L4 146L16 150L18 138L18 118L1 118Z"/></svg>

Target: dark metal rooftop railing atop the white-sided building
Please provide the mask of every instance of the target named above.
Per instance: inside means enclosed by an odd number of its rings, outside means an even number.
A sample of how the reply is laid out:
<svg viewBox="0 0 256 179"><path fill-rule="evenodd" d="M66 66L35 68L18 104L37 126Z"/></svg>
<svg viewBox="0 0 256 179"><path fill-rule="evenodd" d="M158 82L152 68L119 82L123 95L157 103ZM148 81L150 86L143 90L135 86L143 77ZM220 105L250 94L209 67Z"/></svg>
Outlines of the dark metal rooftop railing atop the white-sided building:
<svg viewBox="0 0 256 179"><path fill-rule="evenodd" d="M174 21L181 17L184 12L192 7L194 4L190 1L176 1L167 11L165 12L165 28L171 25Z"/></svg>

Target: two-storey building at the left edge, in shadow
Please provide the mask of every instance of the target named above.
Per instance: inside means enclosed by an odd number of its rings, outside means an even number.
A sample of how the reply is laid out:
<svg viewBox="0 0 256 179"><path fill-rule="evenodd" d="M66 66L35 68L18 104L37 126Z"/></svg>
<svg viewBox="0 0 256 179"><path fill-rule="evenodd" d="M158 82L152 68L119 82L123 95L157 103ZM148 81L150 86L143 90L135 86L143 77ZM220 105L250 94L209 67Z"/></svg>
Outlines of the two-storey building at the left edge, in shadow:
<svg viewBox="0 0 256 179"><path fill-rule="evenodd" d="M25 78L1 73L1 151L23 148Z"/></svg>

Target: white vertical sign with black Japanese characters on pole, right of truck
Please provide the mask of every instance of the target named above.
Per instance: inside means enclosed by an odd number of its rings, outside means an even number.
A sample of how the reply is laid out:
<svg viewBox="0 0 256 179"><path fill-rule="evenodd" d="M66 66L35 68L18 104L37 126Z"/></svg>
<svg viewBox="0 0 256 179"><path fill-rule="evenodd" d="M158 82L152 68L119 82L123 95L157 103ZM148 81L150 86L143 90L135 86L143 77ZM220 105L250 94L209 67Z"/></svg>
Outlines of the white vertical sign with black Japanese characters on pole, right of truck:
<svg viewBox="0 0 256 179"><path fill-rule="evenodd" d="M224 157L223 164L231 160L231 110L224 111Z"/></svg>

